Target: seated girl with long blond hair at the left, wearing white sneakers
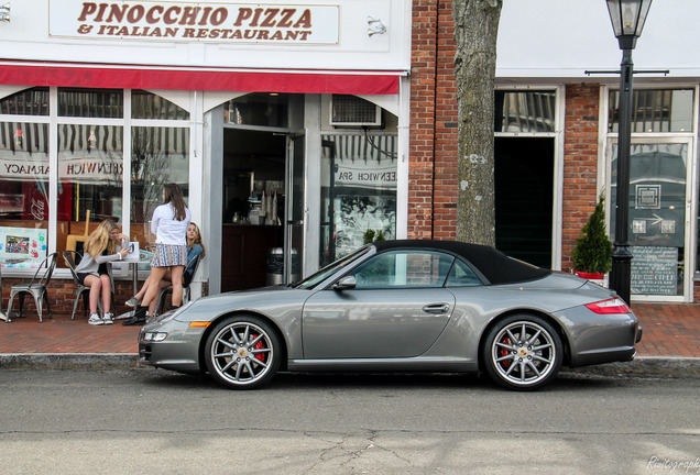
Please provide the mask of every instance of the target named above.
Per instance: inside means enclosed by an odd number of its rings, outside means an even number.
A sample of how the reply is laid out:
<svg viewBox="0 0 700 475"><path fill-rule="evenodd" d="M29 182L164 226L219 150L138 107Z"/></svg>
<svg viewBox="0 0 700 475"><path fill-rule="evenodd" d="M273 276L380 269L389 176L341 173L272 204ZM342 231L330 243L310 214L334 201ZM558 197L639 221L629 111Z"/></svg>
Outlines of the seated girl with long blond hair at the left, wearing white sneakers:
<svg viewBox="0 0 700 475"><path fill-rule="evenodd" d="M129 254L129 236L119 232L112 220L102 221L85 241L85 255L75 269L78 280L90 288L89 324L111 324L112 284L107 270L107 263L121 261ZM97 312L98 301L102 296L102 317Z"/></svg>

